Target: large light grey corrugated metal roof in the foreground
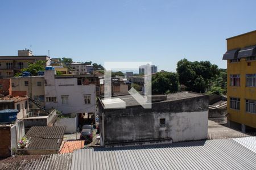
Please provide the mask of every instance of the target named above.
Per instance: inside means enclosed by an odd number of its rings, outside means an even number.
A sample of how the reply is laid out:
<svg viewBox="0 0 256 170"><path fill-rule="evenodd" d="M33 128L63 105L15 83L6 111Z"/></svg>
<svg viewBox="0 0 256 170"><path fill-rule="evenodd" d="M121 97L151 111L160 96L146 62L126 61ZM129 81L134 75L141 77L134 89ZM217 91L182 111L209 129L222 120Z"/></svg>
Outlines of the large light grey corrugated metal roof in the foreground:
<svg viewBox="0 0 256 170"><path fill-rule="evenodd" d="M233 139L216 139L76 150L72 169L256 169L255 160L255 152Z"/></svg>

